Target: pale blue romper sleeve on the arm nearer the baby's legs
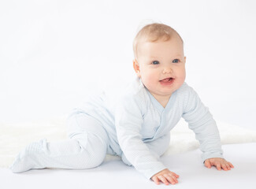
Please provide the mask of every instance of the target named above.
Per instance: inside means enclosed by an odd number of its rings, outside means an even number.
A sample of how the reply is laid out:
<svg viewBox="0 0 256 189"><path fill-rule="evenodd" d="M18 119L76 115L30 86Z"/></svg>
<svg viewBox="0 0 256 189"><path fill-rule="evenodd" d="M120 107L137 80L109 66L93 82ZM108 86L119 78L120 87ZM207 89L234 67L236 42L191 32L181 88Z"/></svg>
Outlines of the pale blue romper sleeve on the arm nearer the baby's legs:
<svg viewBox="0 0 256 189"><path fill-rule="evenodd" d="M136 98L125 98L115 113L117 139L127 160L147 179L166 169L165 165L150 152L140 134L143 124L142 102Z"/></svg>

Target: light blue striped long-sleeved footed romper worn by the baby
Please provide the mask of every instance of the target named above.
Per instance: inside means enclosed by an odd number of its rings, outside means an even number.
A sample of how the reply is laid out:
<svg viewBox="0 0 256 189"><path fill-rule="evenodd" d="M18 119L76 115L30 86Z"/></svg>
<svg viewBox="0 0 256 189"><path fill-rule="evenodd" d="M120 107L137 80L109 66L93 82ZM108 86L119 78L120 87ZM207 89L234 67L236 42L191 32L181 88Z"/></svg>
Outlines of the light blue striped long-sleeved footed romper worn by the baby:
<svg viewBox="0 0 256 189"><path fill-rule="evenodd" d="M164 108L136 77L124 90L104 91L74 109L68 118L69 139L29 144L10 169L90 169L100 165L106 154L114 154L150 179L166 169L159 158L168 149L170 130L181 117L195 132L202 161L223 158L216 122L187 83Z"/></svg>

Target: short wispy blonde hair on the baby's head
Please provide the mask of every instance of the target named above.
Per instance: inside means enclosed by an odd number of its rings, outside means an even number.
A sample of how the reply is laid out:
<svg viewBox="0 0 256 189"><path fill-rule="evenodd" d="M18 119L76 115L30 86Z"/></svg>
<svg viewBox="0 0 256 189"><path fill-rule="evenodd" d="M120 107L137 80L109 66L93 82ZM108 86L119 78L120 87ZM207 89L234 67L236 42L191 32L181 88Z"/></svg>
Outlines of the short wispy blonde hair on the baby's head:
<svg viewBox="0 0 256 189"><path fill-rule="evenodd" d="M176 33L179 37L180 35L178 32L169 27L165 24L160 23L153 23L153 24L147 24L142 29L139 30L137 35L135 36L135 39L133 40L133 53L135 59L138 57L138 46L139 43L145 43L145 42L157 42L159 40L162 41L168 41L172 38L173 33ZM180 37L181 39L181 37ZM184 43L181 39L182 44Z"/></svg>

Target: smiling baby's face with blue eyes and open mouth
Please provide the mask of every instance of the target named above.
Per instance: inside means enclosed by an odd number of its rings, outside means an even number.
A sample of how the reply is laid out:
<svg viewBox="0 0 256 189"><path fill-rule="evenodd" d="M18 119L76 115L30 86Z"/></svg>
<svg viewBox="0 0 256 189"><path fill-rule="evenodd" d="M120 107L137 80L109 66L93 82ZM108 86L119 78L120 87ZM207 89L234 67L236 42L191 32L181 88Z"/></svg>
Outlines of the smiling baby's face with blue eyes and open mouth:
<svg viewBox="0 0 256 189"><path fill-rule="evenodd" d="M135 72L155 98L169 98L184 83L185 61L183 44L178 35L166 42L140 43Z"/></svg>

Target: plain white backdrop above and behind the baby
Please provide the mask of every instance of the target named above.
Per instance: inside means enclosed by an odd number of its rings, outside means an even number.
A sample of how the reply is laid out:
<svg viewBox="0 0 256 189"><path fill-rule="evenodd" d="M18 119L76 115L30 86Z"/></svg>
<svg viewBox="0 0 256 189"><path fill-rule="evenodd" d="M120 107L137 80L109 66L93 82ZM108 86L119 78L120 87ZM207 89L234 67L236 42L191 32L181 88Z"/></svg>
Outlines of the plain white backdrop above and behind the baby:
<svg viewBox="0 0 256 189"><path fill-rule="evenodd" d="M254 128L255 9L252 0L1 0L0 123L62 116L132 80L132 40L153 20L184 39L186 82L213 117Z"/></svg>

